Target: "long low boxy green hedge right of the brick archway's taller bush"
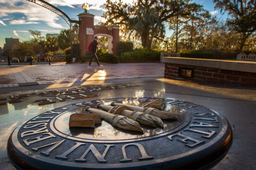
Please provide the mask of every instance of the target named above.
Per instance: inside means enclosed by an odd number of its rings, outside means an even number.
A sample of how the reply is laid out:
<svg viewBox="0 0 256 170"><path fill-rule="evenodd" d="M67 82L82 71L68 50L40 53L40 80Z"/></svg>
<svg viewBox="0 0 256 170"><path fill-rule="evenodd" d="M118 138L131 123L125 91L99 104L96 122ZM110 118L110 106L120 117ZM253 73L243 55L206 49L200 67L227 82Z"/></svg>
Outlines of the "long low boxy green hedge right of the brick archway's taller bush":
<svg viewBox="0 0 256 170"><path fill-rule="evenodd" d="M120 62L156 61L160 59L160 54L161 53L157 51L124 52L120 56Z"/></svg>

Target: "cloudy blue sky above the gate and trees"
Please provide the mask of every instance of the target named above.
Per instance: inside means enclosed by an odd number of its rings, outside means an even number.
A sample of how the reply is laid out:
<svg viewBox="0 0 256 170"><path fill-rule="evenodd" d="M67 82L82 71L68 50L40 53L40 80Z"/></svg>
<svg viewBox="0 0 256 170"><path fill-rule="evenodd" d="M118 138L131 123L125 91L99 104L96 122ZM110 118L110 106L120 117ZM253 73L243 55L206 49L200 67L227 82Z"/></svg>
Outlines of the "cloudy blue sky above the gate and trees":
<svg viewBox="0 0 256 170"><path fill-rule="evenodd" d="M65 12L69 18L78 20L78 14L82 13L82 4L90 4L89 13L94 14L94 24L97 24L105 11L103 4L106 0L46 0L48 3ZM39 1L37 1L39 3ZM123 0L131 3L132 0ZM219 10L214 10L212 0L192 0L204 6L206 10L218 18L226 18ZM104 20L102 20L104 21ZM20 42L31 39L28 30L38 30L43 36L47 33L59 33L68 29L69 25L60 16L50 10L27 0L0 0L0 47L3 47L5 38L18 38ZM171 31L166 30L166 36Z"/></svg>

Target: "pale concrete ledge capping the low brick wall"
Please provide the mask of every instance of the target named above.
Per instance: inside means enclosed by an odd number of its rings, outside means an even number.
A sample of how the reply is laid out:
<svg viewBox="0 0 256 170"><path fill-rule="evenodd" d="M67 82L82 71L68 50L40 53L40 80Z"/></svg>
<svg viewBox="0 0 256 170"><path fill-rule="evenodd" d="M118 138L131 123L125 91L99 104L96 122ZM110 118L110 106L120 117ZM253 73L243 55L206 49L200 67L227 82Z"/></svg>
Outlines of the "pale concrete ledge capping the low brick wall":
<svg viewBox="0 0 256 170"><path fill-rule="evenodd" d="M164 57L163 62L256 73L256 62L253 61L228 61L217 59Z"/></svg>

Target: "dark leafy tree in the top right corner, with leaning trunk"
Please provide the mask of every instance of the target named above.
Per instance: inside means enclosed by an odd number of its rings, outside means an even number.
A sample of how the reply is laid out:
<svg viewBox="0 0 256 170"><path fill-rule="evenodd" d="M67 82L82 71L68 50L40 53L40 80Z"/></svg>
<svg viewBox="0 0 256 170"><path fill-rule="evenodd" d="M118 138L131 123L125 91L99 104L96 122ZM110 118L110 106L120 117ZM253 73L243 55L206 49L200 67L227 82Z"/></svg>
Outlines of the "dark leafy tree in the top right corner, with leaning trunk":
<svg viewBox="0 0 256 170"><path fill-rule="evenodd" d="M221 12L228 11L231 16L227 19L227 24L232 30L240 33L238 50L241 51L246 40L256 31L255 0L213 0L213 2L215 8L220 9Z"/></svg>

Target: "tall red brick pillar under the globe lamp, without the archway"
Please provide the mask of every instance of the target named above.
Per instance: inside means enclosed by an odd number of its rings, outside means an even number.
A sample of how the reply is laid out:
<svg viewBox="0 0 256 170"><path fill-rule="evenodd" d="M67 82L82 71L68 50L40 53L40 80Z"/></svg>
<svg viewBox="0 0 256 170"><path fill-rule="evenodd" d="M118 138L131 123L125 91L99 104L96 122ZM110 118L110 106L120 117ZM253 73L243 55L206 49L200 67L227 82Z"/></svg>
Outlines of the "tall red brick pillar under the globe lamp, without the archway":
<svg viewBox="0 0 256 170"><path fill-rule="evenodd" d="M80 21L80 50L81 56L85 55L85 51L88 50L87 47L90 42L94 39L94 16L87 12L78 14Z"/></svg>

